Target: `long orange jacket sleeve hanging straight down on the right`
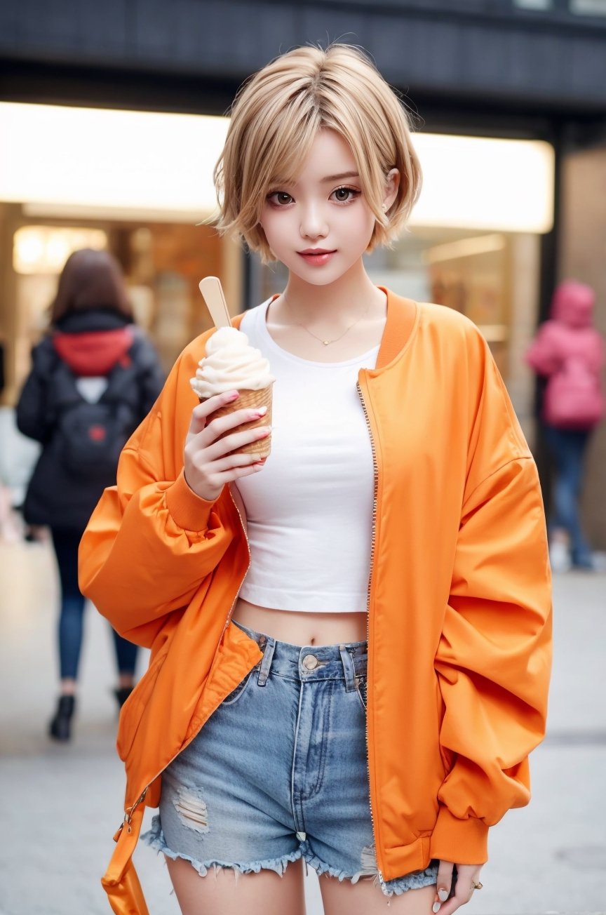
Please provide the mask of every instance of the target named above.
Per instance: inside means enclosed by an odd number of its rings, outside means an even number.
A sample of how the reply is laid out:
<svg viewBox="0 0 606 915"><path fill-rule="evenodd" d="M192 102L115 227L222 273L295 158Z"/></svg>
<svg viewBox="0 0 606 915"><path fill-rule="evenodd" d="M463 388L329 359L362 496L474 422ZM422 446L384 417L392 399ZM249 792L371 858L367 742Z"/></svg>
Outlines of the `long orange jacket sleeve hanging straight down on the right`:
<svg viewBox="0 0 606 915"><path fill-rule="evenodd" d="M475 864L485 833L529 800L528 753L544 733L550 668L550 573L537 468L494 361L470 442L470 466L435 668L445 713L432 854ZM525 454L526 452L526 454ZM479 738L479 736L481 736ZM477 823L462 858L461 821ZM475 855L475 857L473 857Z"/></svg>

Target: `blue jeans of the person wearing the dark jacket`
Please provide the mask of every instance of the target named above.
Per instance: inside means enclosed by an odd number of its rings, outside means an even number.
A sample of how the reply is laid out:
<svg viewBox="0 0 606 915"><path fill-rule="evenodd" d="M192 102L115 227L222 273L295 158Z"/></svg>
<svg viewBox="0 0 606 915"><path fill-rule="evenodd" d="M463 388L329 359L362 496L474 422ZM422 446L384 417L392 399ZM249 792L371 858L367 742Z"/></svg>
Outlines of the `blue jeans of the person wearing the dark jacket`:
<svg viewBox="0 0 606 915"><path fill-rule="evenodd" d="M50 532L57 556L61 585L61 612L58 619L58 656L61 680L78 679L80 650L84 617L84 596L78 587L78 546L80 531L58 530ZM113 632L118 673L133 674L137 660L137 646Z"/></svg>

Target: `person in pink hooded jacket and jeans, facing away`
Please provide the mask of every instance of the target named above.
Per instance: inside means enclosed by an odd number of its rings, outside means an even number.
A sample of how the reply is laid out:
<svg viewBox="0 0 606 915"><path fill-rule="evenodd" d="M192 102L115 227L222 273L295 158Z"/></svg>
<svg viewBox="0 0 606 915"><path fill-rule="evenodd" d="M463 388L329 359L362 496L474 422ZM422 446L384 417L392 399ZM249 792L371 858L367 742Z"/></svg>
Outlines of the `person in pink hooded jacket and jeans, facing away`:
<svg viewBox="0 0 606 915"><path fill-rule="evenodd" d="M601 382L604 341L593 327L595 293L568 280L558 285L551 318L538 330L526 361L545 376L544 431L555 468L549 556L555 571L593 568L579 521L579 495L590 436L606 413Z"/></svg>

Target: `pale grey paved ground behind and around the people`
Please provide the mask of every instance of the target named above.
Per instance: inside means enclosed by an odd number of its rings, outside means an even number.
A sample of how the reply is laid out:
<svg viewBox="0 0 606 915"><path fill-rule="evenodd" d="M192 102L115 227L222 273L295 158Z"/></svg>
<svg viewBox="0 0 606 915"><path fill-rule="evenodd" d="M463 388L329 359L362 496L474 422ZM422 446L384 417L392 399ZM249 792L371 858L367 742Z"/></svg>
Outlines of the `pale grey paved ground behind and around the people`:
<svg viewBox="0 0 606 915"><path fill-rule="evenodd" d="M57 583L48 546L0 544L0 582L0 915L108 915L99 878L123 788L109 632L90 611L75 739L51 745ZM534 799L492 831L484 889L465 915L606 912L606 576L559 576L555 616ZM162 860L142 845L136 860L151 915L178 915ZM321 915L314 876L307 888L308 915Z"/></svg>

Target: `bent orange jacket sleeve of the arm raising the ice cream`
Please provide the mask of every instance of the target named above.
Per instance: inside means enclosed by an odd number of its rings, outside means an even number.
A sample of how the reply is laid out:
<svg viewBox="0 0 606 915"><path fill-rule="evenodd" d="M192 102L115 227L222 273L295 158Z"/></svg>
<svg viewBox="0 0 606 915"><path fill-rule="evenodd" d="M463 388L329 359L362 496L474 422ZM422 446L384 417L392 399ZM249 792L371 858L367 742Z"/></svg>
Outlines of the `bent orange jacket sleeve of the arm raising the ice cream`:
<svg viewBox="0 0 606 915"><path fill-rule="evenodd" d="M195 365L188 350L176 362L124 447L118 485L101 496L80 544L82 591L115 630L147 647L166 615L186 608L232 536L217 507L198 498L183 475Z"/></svg>

